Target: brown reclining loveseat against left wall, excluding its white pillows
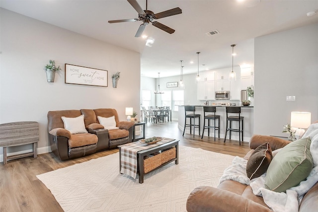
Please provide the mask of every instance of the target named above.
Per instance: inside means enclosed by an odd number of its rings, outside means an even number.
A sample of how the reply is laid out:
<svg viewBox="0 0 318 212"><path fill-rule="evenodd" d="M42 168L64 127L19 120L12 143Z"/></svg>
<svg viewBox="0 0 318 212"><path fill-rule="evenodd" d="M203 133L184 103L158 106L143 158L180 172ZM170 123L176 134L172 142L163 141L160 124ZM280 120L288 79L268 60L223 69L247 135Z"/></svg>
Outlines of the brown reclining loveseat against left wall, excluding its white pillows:
<svg viewBox="0 0 318 212"><path fill-rule="evenodd" d="M80 115L84 115L87 133L72 134L64 128L62 116L75 118ZM97 116L115 116L116 126L119 129L105 129L99 123ZM116 109L56 110L49 111L47 117L51 150L61 160L113 149L132 141L134 122L119 121Z"/></svg>

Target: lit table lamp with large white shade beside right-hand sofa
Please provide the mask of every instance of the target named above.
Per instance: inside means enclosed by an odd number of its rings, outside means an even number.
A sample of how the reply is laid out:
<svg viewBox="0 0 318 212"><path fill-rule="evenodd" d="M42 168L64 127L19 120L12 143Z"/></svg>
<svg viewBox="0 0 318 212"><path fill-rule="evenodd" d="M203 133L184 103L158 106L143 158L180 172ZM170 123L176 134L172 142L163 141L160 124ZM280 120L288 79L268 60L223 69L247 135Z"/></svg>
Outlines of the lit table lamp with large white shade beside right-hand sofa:
<svg viewBox="0 0 318 212"><path fill-rule="evenodd" d="M310 112L292 112L290 118L290 126L298 128L295 136L299 139L304 133L305 129L311 124L312 113Z"/></svg>

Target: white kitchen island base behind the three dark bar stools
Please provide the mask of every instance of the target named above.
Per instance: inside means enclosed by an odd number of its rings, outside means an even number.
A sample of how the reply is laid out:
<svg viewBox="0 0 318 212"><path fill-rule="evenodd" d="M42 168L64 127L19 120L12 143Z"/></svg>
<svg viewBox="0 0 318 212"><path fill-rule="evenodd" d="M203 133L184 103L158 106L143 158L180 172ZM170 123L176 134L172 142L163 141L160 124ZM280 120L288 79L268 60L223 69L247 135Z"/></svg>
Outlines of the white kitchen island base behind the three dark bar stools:
<svg viewBox="0 0 318 212"><path fill-rule="evenodd" d="M220 115L220 139L225 136L225 130L226 130L226 106L216 106L217 111L216 115ZM195 113L201 114L201 126L200 126L200 135L202 135L203 131L203 121L204 121L204 112L203 112L203 106L195 106ZM233 114L233 113L231 113ZM233 114L234 115L234 114ZM244 142L249 142L250 138L253 135L253 124L254 124L254 107L253 106L241 106L241 116L244 116ZM189 118L187 118L187 123L189 121ZM198 118L196 119L196 122L198 121ZM193 123L193 121L192 121ZM211 125L213 125L213 120L211 120ZM218 124L218 123L217 123ZM208 121L206 121L206 125L208 125ZM233 128L239 128L239 122L233 121L232 122ZM184 106L179 106L179 112L178 112L178 128L183 131L184 128ZM198 128L195 128L195 135L198 136ZM185 133L190 133L190 128L186 127ZM193 133L193 129L192 129ZM208 136L208 130L204 130L204 136ZM216 131L216 137L218 136L218 131ZM210 137L214 137L214 129L210 129ZM200 136L201 138L201 136ZM228 132L227 138L230 138L230 133ZM238 140L239 141L239 132L232 132L231 140Z"/></svg>

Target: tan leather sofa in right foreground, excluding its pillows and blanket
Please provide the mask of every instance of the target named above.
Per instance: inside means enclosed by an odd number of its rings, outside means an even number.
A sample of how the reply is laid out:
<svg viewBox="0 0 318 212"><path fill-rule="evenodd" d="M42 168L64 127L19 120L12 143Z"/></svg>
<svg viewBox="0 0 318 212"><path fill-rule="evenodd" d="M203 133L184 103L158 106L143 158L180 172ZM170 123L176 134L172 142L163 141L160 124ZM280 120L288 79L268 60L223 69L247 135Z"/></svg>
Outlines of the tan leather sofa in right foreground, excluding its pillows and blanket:
<svg viewBox="0 0 318 212"><path fill-rule="evenodd" d="M260 139L261 138L261 139ZM269 142L272 150L286 146L290 141L272 136L254 135L249 143L252 149L244 159L259 145ZM255 196L250 186L226 180L217 188L200 186L189 195L186 209L188 212L272 212L263 198ZM316 212L318 209L318 183L304 196L299 207L300 212Z"/></svg>

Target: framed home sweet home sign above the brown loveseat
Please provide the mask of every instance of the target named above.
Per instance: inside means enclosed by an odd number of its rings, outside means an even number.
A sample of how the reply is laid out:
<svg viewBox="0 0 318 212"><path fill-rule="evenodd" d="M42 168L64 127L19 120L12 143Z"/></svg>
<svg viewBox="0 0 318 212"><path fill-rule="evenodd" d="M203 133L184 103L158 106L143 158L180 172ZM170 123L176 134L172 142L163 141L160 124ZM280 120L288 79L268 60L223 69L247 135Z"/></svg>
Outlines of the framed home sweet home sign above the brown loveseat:
<svg viewBox="0 0 318 212"><path fill-rule="evenodd" d="M65 64L65 83L108 87L108 71Z"/></svg>

